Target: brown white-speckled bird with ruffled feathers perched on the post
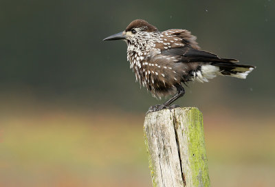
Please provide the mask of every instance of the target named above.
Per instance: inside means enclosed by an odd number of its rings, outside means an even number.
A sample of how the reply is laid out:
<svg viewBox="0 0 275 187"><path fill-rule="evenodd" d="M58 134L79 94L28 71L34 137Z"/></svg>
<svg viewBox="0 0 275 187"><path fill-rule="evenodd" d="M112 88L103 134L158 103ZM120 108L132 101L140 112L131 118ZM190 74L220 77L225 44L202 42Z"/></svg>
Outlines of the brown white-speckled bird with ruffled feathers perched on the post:
<svg viewBox="0 0 275 187"><path fill-rule="evenodd" d="M233 58L219 58L201 50L188 30L170 29L160 32L147 21L136 19L125 30L103 41L123 40L127 44L127 61L136 81L155 98L173 95L164 104L151 106L147 113L179 107L171 105L184 96L183 85L190 81L208 82L216 76L243 78L253 69Z"/></svg>

